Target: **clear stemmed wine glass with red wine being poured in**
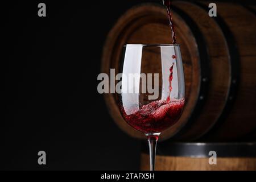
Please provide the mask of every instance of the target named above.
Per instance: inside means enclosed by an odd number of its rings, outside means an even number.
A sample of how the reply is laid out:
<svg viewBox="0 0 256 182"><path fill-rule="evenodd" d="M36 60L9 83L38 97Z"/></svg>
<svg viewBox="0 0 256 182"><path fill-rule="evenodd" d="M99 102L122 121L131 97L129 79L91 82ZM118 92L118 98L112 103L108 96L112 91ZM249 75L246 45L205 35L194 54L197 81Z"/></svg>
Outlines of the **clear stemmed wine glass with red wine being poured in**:
<svg viewBox="0 0 256 182"><path fill-rule="evenodd" d="M119 110L130 126L146 135L154 171L159 135L179 120L185 101L179 44L127 44L119 73Z"/></svg>

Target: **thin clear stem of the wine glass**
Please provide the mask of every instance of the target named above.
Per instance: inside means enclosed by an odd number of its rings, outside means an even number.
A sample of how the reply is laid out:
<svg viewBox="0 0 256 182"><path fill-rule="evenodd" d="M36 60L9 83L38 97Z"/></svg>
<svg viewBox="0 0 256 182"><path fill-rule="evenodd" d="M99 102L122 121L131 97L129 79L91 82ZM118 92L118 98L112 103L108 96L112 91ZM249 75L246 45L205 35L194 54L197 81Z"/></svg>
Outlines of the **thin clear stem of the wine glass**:
<svg viewBox="0 0 256 182"><path fill-rule="evenodd" d="M158 136L148 136L147 140L150 150L150 171L155 171L155 151L156 143L158 142Z"/></svg>

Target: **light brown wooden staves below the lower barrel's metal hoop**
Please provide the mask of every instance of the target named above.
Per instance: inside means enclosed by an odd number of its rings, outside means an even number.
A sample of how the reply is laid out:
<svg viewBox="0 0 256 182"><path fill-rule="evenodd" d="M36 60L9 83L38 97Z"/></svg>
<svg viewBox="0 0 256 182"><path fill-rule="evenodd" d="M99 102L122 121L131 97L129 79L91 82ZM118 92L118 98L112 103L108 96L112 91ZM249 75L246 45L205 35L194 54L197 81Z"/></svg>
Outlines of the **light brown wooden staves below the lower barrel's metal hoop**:
<svg viewBox="0 0 256 182"><path fill-rule="evenodd" d="M141 155L141 170L149 170L149 156ZM216 165L209 158L156 156L158 171L247 171L256 170L256 158L217 158Z"/></svg>

